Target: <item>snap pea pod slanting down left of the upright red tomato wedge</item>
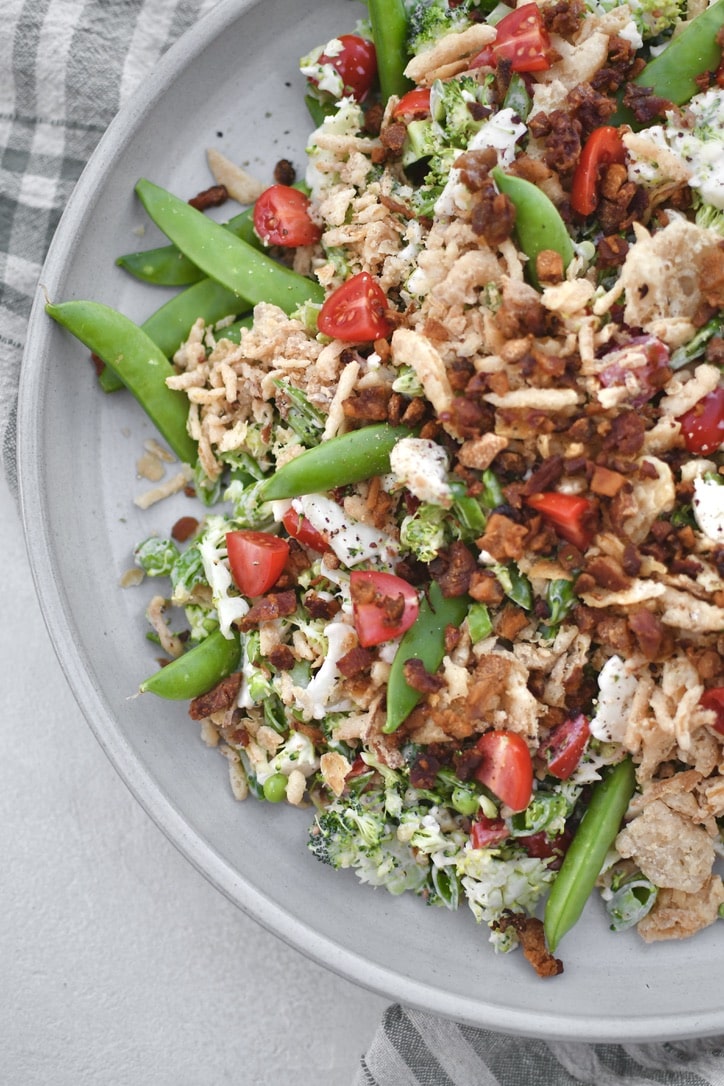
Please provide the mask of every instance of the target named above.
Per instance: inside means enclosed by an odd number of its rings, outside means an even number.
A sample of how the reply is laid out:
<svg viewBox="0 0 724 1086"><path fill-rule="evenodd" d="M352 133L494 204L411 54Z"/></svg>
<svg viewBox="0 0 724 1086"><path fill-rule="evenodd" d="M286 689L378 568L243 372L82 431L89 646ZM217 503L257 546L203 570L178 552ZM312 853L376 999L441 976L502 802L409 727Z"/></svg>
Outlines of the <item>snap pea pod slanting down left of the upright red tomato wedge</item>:
<svg viewBox="0 0 724 1086"><path fill-rule="evenodd" d="M491 173L500 192L505 192L516 209L516 235L520 248L528 256L528 276L539 290L541 283L535 270L538 253L552 249L560 254L564 268L573 258L573 242L566 223L552 201L531 181L504 174L498 166Z"/></svg>

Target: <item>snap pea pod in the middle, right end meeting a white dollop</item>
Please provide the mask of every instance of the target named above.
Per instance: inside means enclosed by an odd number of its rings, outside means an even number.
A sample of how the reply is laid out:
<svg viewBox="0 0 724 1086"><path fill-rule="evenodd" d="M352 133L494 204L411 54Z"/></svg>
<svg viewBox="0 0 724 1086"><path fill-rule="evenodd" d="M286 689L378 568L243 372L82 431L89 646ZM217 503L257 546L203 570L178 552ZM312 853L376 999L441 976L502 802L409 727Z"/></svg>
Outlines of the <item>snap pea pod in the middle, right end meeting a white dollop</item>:
<svg viewBox="0 0 724 1086"><path fill-rule="evenodd" d="M393 447L410 433L404 426L378 422L322 441L289 460L267 479L261 488L262 501L319 494L384 475L390 470Z"/></svg>

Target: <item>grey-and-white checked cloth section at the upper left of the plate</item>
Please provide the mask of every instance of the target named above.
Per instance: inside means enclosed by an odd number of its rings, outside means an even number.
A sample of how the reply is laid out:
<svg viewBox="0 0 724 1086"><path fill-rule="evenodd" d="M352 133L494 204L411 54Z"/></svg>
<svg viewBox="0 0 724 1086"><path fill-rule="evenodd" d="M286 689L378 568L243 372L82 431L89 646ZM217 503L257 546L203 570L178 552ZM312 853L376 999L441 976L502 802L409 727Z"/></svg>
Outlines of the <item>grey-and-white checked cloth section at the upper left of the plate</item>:
<svg viewBox="0 0 724 1086"><path fill-rule="evenodd" d="M100 137L215 0L0 5L0 441L13 490L25 330L63 209Z"/></svg>

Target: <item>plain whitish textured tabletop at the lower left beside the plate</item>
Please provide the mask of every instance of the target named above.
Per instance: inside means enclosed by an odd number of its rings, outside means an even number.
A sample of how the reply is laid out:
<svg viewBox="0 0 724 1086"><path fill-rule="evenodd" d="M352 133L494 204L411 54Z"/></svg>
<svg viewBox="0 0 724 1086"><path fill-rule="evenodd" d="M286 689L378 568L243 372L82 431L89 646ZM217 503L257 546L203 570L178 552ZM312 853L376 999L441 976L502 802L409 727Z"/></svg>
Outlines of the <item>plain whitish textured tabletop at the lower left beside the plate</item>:
<svg viewBox="0 0 724 1086"><path fill-rule="evenodd" d="M0 1081L351 1082L386 1001L230 905L130 796L63 678L0 479Z"/></svg>

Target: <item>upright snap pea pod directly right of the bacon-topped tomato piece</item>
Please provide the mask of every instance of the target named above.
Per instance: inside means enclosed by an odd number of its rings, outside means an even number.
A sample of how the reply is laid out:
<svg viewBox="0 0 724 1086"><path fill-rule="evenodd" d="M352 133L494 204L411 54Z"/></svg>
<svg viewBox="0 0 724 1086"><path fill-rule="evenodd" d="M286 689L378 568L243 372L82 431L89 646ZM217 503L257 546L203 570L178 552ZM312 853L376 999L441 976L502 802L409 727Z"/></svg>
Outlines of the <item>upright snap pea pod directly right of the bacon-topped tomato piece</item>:
<svg viewBox="0 0 724 1086"><path fill-rule="evenodd" d="M409 717L422 694L405 679L406 660L422 660L425 670L435 672L445 655L445 627L458 627L468 614L468 596L446 598L433 581L422 598L414 626L403 635L388 679L388 715L382 731L396 732Z"/></svg>

